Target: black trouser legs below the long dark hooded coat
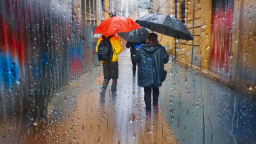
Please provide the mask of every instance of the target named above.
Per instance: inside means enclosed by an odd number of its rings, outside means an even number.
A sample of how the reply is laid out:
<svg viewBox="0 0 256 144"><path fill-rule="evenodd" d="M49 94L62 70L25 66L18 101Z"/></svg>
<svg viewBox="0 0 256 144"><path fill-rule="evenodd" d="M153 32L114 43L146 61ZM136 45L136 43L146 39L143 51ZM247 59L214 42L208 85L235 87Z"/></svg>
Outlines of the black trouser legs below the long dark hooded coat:
<svg viewBox="0 0 256 144"><path fill-rule="evenodd" d="M153 106L158 106L159 88L158 87L144 87L144 101L146 110L151 108L151 92L153 89Z"/></svg>

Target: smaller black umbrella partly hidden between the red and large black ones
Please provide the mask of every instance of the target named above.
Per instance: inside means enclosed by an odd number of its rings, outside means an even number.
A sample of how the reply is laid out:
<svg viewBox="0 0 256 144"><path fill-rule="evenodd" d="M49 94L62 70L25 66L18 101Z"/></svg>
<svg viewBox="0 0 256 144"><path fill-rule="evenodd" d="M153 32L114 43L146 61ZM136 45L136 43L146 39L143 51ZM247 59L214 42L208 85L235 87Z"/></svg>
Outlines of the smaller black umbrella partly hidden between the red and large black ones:
<svg viewBox="0 0 256 144"><path fill-rule="evenodd" d="M131 32L121 32L119 36L129 42L146 42L150 32L146 28L138 28L132 30Z"/></svg>

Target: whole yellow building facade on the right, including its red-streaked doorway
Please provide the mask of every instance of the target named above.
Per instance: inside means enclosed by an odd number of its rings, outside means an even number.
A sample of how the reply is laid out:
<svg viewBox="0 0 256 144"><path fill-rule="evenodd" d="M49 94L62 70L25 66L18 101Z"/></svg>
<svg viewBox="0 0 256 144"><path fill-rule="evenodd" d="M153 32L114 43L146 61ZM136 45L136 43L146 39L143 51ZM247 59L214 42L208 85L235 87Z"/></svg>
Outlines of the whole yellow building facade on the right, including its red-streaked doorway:
<svg viewBox="0 0 256 144"><path fill-rule="evenodd" d="M191 41L175 42L174 38L163 36L161 44L178 63L234 89L256 94L255 3L157 0L152 1L152 11L176 16L193 34Z"/></svg>

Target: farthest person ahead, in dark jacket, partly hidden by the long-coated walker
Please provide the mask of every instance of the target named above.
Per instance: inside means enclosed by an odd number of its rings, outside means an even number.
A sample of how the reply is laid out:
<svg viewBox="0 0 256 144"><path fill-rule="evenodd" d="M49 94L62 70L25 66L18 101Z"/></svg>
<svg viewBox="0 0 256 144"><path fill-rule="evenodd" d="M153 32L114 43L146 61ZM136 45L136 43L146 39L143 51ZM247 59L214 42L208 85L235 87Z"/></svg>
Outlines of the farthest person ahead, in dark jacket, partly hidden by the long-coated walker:
<svg viewBox="0 0 256 144"><path fill-rule="evenodd" d="M127 43L126 43L126 47L130 48L130 52L131 52L131 63L133 64L133 75L135 75L135 73L136 73L136 66L137 66L137 63L135 63L135 61L134 61L134 56L139 51L139 47L144 43L145 42L136 43L136 42L129 42L129 41L127 41Z"/></svg>

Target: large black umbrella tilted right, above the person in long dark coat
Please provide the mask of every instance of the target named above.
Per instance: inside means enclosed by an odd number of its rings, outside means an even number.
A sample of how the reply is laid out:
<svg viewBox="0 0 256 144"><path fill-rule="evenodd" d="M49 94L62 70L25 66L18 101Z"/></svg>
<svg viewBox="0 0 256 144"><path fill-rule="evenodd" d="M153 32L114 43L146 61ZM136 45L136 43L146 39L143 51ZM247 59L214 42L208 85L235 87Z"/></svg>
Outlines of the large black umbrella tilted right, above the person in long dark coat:
<svg viewBox="0 0 256 144"><path fill-rule="evenodd" d="M170 17L170 15L150 13L140 17L135 22L140 26L166 36L172 36L183 40L193 40L185 24L174 17Z"/></svg>

